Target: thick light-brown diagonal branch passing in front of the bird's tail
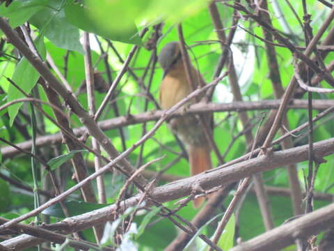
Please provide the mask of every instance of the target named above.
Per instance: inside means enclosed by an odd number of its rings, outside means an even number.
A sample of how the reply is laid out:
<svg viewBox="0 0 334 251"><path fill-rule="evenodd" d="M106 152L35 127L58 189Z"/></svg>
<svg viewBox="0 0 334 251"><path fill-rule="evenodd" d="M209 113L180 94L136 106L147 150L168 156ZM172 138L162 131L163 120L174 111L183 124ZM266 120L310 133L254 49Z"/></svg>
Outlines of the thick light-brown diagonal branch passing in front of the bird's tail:
<svg viewBox="0 0 334 251"><path fill-rule="evenodd" d="M319 158L323 158L326 155L331 155L334 153L334 138L315 143L314 153ZM308 160L308 145L272 153L269 152L268 155L262 155L251 160L231 165L228 168L212 169L211 172L198 174L196 176L184 178L181 181L175 181L167 185L162 185L158 188L152 189L149 192L149 195L150 198L162 203L191 195L194 184L200 185L200 187L205 190L210 190L222 183L228 185L234 181L239 181L241 178L246 178L258 172L264 172L269 169L275 169L285 165L303 162L305 160ZM136 195L125 201L122 201L120 203L120 210L124 211L129 206L135 206L138 203L138 199L140 199L140 197L141 195ZM147 202L148 206L152 205L150 200ZM114 213L116 213L115 204L100 208L95 211L90 211L82 215L77 215L72 218L67 218L62 222L46 225L45 227L50 230L63 230L65 233L70 233L72 231L79 231L81 229L92 227L93 225L100 225L103 222L111 220ZM334 217L333 213L328 215ZM26 240L26 243L22 243L22 245L25 244L24 248L28 248L28 244L30 242L36 245L36 242L38 243L38 241L41 242L42 240L36 241L35 237L31 237ZM4 242L1 244L3 245ZM10 248L10 245L5 246Z"/></svg>

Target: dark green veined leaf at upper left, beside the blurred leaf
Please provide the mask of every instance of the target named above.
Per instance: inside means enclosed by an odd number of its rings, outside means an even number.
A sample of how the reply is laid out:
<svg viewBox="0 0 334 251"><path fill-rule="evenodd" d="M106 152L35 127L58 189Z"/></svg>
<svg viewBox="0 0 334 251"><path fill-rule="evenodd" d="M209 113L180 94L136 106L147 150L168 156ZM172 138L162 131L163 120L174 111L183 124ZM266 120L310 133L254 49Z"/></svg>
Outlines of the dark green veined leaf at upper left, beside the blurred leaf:
<svg viewBox="0 0 334 251"><path fill-rule="evenodd" d="M67 20L65 11L61 8L62 1L56 0L54 8L43 8L29 20L31 24L44 32L45 36L57 47L65 50L74 50L84 54L79 42L79 29Z"/></svg>

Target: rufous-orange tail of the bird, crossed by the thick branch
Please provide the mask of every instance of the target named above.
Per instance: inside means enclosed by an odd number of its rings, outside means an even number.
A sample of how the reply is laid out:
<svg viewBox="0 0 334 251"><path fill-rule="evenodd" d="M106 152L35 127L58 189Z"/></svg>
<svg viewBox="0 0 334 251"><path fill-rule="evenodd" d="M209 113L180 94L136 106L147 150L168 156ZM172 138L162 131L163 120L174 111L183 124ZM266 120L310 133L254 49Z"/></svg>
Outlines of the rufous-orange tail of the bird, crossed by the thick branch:
<svg viewBox="0 0 334 251"><path fill-rule="evenodd" d="M189 163L191 167L191 175L200 174L212 168L210 148L207 145L189 146ZM200 197L193 201L193 206L198 208L205 197Z"/></svg>

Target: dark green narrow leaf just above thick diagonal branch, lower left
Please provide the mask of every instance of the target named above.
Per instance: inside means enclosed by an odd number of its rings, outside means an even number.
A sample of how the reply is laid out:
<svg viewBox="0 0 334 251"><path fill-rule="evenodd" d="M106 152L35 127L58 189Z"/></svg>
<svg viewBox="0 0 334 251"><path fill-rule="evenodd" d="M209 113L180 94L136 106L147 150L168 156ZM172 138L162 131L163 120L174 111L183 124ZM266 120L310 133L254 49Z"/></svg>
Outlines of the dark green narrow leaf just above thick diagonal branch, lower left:
<svg viewBox="0 0 334 251"><path fill-rule="evenodd" d="M81 215L82 213L87 213L110 205L110 204L87 203L84 201L65 201L64 203L65 206L67 207L68 213L70 213L70 217L75 215ZM63 209L61 208L61 205L59 203L50 206L49 208L42 211L42 213L45 215L50 215L58 218L65 218Z"/></svg>

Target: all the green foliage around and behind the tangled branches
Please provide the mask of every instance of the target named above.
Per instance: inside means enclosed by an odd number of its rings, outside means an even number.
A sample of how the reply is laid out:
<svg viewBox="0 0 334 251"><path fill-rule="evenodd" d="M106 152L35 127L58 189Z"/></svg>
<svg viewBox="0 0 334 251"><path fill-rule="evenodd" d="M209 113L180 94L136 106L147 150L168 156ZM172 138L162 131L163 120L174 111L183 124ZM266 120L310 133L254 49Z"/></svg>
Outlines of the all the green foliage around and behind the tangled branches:
<svg viewBox="0 0 334 251"><path fill-rule="evenodd" d="M248 1L241 1L245 5L246 2ZM294 45L305 47L303 29L296 17L292 15L292 10L287 3L277 0L272 2L269 3L268 11L273 26ZM301 1L290 2L302 20L303 6ZM28 30L38 54L43 61L47 61L49 58L52 59L85 111L89 111L90 107L88 106L88 94L86 91L85 52L82 46L82 34L84 31L92 33L90 34L90 47L92 49L91 56L95 77L95 107L100 107L106 96L106 90L117 79L129 52L132 51L134 46L138 46L134 58L130 61L129 67L127 67L127 73L117 83L113 96L111 96L111 102L108 103L107 108L104 109L99 119L99 121L106 121L118 116L126 116L131 120L132 114L141 114L159 109L156 104L159 103L159 86L164 73L159 64L154 64L154 56L157 53L159 54L166 43L179 40L177 34L178 22L182 23L184 38L186 45L189 47L189 55L193 66L198 68L207 83L212 82L215 68L219 63L222 52L212 24L212 16L207 8L208 4L209 1L207 0L16 0L10 3L8 7L5 6L5 3L0 5L0 17L8 17L10 26L13 29L16 28L17 31L19 26L29 27ZM242 15L243 13L241 11L234 13L233 8L222 3L217 3L217 6L221 21L225 27L224 32L228 34L233 28L233 15ZM313 33L317 33L330 9L316 0L308 1L307 6L308 13L312 17L311 26ZM247 6L252 13L260 11L253 7ZM160 25L161 22L164 22L164 24ZM267 49L264 42L254 36L263 38L262 28L246 15L241 16L238 25L253 33L247 33L238 27L230 47L239 77L243 100L262 101L276 99L273 83L269 78L269 70L272 66L267 59ZM145 27L148 28L148 32L142 35L141 31ZM326 30L323 38L328 36L328 31L332 28L333 24ZM93 34L96 36L93 36ZM22 34L19 35L24 38ZM42 88L41 84L38 84L38 79L40 79L38 71L33 68L24 56L22 57L22 54L15 50L10 40L6 40L6 36L1 31L0 38L0 105L24 98L24 94L17 90L13 84L10 84L6 77L9 77L24 92L34 98L49 102L45 89ZM274 42L276 43L277 41ZM154 49L155 46L157 46L157 51ZM292 53L285 47L276 47L276 57L278 59L281 82L283 87L286 87L294 75ZM328 65L332 61L333 53L329 53L324 59L324 63ZM55 68L51 67L50 61L47 61L47 66L58 79L61 79ZM227 70L227 68L225 67L224 70ZM102 84L102 88L99 87L100 85L97 86L97 83ZM328 88L328 84L324 81L321 81L321 86ZM333 99L333 94L315 93L313 98L331 100ZM306 100L307 94L303 95L301 99ZM84 126L83 121L75 116L71 109L68 109L67 100L61 98L59 100L61 105L63 105L61 109L70 116L69 127L79 128ZM228 77L225 77L216 86L212 102L232 102L233 100ZM33 129L29 119L30 109L28 105L26 102L19 102L15 105L10 105L4 111L0 111L1 139L6 139L11 144L19 144L31 139ZM52 107L45 104L41 104L41 107L47 116L56 120ZM214 113L214 141L218 151L225 156L225 162L244 155L248 150L244 135L239 135L244 130L244 127L239 120L237 112ZM248 112L251 122L255 124L251 129L253 135L255 135L257 130L259 118L262 116L261 112L255 110ZM316 116L317 113L316 110L313 111L313 116ZM45 114L38 112L38 128L36 131L39 138L43 135L53 135L61 131L51 119L47 119ZM269 111L267 111L267 114L269 114ZM308 121L307 109L289 109L287 111L287 121L289 121L290 128L296 128L305 123ZM122 128L108 129L104 130L104 132L111 139L113 146L118 152L122 153L125 149L134 146L145 132L148 132L153 126L154 121L150 121L148 123L122 126ZM333 134L333 123L321 121L315 125L313 140L317 142L329 139L333 137ZM82 131L80 135L82 135ZM308 144L307 136L306 130L300 132L299 137L293 139L294 146ZM89 147L93 145L91 137L88 137L86 142L82 142ZM233 144L228 147L231 142ZM70 151L67 143L62 138L58 142L50 140L46 144L38 146L38 157L49 164L52 173L57 178L58 184L61 185L62 191L72 188L77 183L76 180L71 178L72 174L74 174L71 160L74 157L74 153L82 155L81 153L85 151L79 149ZM0 155L0 173L1 176L9 178L5 180L0 176L0 215L3 218L10 219L14 218L10 215L23 215L32 211L34 205L31 195L32 192L38 191L29 189L29 187L33 187L30 156L26 153L6 155L7 144L1 141L0 146L1 153L4 155ZM280 147L277 146L274 150L280 150ZM26 149L26 151L30 152L31 148ZM165 174L183 178L189 176L189 164L184 155L180 154L181 151L182 149L177 144L175 136L164 123L145 144L129 154L127 160L133 167L141 167L141 165L165 155L162 160L154 162L147 169L156 173L163 170ZM102 155L108 157L103 149ZM84 156L82 158L88 166L88 174L93 174L95 172L91 168L94 162L93 153L82 156ZM108 158L104 159L102 166L109 160ZM333 156L326 157L326 160L327 162L321 164L317 172L315 192L334 192ZM214 167L218 166L218 158L213 152L212 162ZM173 163L173 165L165 170L165 167L168 167L170 163ZM42 165L38 165L38 168L40 168L40 174L38 175L39 187L47 192L53 191L53 188L49 185L49 175L45 175L48 173L45 172ZM297 171L301 187L305 188L308 162L299 163ZM263 176L265 185L276 188L289 188L287 171L284 168L264 172ZM74 178L77 178L77 176ZM168 183L164 178L165 176L161 178L161 181L157 182L157 186ZM84 202L81 192L74 192L68 198L69 201L65 202L65 205L70 208L70 215L81 215L82 213L94 211L115 203L126 179L126 176L122 176L118 172L106 172L103 175L104 188L106 188L106 201L103 204ZM98 194L97 182L96 179L91 182L96 197ZM17 183L20 185L17 185ZM125 192L125 197L132 197L137 192L133 185L129 185ZM40 197L45 199L45 201L47 200L43 194L40 194ZM207 222L204 227L200 228L191 245L196 245L196 241L198 243L199 234L204 233L206 236L214 234L218 224L217 219L221 218L221 214L225 211L231 199L232 195L229 195L221 206L216 209L215 215L212 215L211 218L212 222ZM291 199L269 194L269 201L276 227L292 217ZM168 201L164 203L164 206L173 210L173 208L177 208L174 204L175 202ZM328 204L328 201L316 200L315 209L326 204ZM120 203L120 206L122 206L122 203ZM104 231L106 243L121 245L120 240L115 237L117 232L118 234L123 234L125 240L129 241L127 244L133 245L136 250L164 250L179 234L177 227L166 218L166 212L163 211L161 206L146 208L148 209L146 211L137 211L136 209L132 208L132 210L125 211L125 213L122 213L122 211L118 212L120 217L111 222L111 227L106 227ZM49 221L50 223L55 223L58 222L58 218L64 217L61 210L61 206L56 204L43 211L43 213L51 215ZM193 208L193 205L189 203L181 207L177 211L177 215L191 221L199 211L200 209ZM129 223L128 220L132 216L134 217L133 222ZM48 220L47 218L44 219ZM132 228L132 233L128 235L121 231L122 227L127 227L127 224ZM238 237L242 241L246 241L263 232L264 225L257 198L252 190L249 190L239 208L237 208L237 212L230 218L218 245L224 251L229 250L237 244L235 240ZM80 234L87 241L95 242L93 231L85 230ZM122 245L125 244L123 243ZM207 248L206 244L203 243L202 247Z"/></svg>

